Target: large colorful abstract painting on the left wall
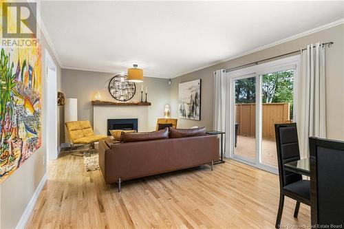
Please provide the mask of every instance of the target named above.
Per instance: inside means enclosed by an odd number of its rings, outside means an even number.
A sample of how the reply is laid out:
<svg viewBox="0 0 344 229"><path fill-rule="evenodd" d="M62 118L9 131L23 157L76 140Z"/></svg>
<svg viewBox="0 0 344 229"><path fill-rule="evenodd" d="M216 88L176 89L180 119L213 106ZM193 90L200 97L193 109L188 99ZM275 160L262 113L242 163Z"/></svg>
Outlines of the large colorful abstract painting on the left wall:
<svg viewBox="0 0 344 229"><path fill-rule="evenodd" d="M41 102L41 45L1 43L0 184L42 145Z"/></svg>

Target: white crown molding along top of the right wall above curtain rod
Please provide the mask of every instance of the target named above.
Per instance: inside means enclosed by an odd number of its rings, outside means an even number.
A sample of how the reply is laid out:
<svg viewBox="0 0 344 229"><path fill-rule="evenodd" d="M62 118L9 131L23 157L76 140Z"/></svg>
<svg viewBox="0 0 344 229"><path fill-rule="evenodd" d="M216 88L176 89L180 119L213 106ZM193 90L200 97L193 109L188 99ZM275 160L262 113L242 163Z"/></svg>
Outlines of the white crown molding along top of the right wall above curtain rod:
<svg viewBox="0 0 344 229"><path fill-rule="evenodd" d="M224 59L224 60L216 61L216 62L213 62L213 63L211 63L211 64L204 65L203 67L198 67L197 69L193 69L193 70L191 70L191 71L189 71L189 72L184 72L184 73L178 74L177 76L173 76L173 77L171 77L171 78L177 78L177 77L179 77L179 76L184 76L184 75L186 75L186 74L189 74L189 73L191 73L191 72L196 72L196 71L201 70L201 69L204 69L204 68L206 68L206 67L211 67L211 66L214 66L214 65L218 65L218 64L220 64L220 63L224 63L224 62L227 62L227 61L234 60L235 58L239 58L239 57L241 57L241 56L246 56L246 55L249 55L249 54L252 54L252 53L255 53L255 52L259 52L259 51L261 51L261 50L266 50L266 49L268 49L269 47L274 47L274 46L276 46L276 45L281 45L281 44L286 43L286 42L288 42L288 41L292 41L292 40L295 40L295 39L299 39L300 37L307 36L307 35L309 35L309 34L314 34L315 32L319 32L319 31L321 31L321 30L326 30L326 29L328 29L328 28L332 28L332 27L334 27L334 26L336 26L336 25L341 25L341 24L343 24L343 23L344 23L344 18L343 18L343 19L336 20L336 21L332 21L331 23L327 23L327 24L325 24L325 25L321 25L321 26L316 27L316 28L314 28L314 29L307 30L307 31L305 31L305 32L301 32L301 33L299 33L299 34L295 34L295 35L292 35L292 36L288 36L288 37L285 38L285 39L281 39L281 40L279 40L279 41L275 41L275 42L270 43L270 44L268 44L268 45L263 45L263 46L261 46L261 47L257 47L257 48L255 48L255 49L253 49L253 50L249 50L249 51L247 51L247 52L243 52L243 53L238 54L238 55L230 56L229 58L226 58L226 59Z"/></svg>

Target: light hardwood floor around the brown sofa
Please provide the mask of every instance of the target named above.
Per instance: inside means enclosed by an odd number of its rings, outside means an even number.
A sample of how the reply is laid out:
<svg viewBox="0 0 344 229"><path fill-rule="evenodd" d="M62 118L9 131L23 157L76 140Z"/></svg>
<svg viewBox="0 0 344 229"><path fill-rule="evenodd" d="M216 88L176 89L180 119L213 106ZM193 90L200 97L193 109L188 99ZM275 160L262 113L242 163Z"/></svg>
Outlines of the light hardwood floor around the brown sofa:
<svg viewBox="0 0 344 229"><path fill-rule="evenodd" d="M27 228L275 228L277 175L227 160L107 185L85 172L83 157L50 162L48 180ZM307 226L310 208L286 197L282 225Z"/></svg>

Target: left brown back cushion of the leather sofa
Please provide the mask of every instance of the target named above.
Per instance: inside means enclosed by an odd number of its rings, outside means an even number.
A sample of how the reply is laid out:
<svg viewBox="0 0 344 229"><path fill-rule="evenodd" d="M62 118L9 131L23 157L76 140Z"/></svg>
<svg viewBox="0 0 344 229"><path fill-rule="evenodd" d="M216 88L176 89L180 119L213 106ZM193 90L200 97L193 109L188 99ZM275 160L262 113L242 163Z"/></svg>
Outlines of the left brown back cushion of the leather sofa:
<svg viewBox="0 0 344 229"><path fill-rule="evenodd" d="M122 133L122 142L142 142L149 140L160 140L169 138L169 128L160 131L142 132L142 133Z"/></svg>

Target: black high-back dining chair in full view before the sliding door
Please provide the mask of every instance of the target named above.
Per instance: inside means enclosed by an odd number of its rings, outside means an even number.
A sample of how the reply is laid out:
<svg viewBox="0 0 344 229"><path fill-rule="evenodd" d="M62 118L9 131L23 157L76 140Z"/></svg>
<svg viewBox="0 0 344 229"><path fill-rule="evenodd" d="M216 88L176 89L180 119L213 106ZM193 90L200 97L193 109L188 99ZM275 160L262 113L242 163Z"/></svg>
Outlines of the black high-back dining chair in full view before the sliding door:
<svg viewBox="0 0 344 229"><path fill-rule="evenodd" d="M310 205L310 181L302 179L302 175L286 171L284 164L300 160L297 124L275 124L277 160L279 167L279 210L276 228L281 226L284 197L297 201L294 217L299 214L300 203Z"/></svg>

